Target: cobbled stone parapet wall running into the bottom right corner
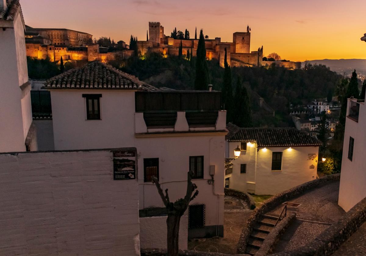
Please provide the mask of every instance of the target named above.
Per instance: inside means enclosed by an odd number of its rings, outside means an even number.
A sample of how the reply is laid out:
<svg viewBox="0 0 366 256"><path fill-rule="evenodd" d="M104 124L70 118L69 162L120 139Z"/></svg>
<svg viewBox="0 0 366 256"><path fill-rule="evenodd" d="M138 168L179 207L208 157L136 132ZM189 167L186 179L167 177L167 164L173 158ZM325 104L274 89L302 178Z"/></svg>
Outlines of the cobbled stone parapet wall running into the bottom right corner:
<svg viewBox="0 0 366 256"><path fill-rule="evenodd" d="M309 244L289 252L270 256L331 255L366 221L366 197L351 208L339 221L324 230Z"/></svg>

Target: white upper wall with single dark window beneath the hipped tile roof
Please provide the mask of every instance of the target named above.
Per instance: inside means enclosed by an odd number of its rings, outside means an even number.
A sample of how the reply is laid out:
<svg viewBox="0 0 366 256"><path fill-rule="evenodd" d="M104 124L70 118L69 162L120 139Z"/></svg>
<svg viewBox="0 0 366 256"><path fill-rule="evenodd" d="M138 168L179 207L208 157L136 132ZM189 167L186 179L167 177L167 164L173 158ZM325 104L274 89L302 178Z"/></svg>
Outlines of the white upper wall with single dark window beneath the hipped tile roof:
<svg viewBox="0 0 366 256"><path fill-rule="evenodd" d="M102 94L101 120L86 120L82 94ZM56 150L134 146L134 91L60 89L51 99Z"/></svg>

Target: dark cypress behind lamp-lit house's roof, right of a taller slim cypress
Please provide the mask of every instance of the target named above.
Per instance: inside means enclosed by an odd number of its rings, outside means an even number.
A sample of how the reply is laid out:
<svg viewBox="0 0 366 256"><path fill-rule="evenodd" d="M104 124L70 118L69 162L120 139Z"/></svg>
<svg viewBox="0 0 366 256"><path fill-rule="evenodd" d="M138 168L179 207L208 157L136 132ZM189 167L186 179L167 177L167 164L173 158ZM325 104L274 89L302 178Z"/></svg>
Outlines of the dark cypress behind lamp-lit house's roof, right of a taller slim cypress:
<svg viewBox="0 0 366 256"><path fill-rule="evenodd" d="M238 125L239 127L252 127L250 99L247 89L240 81L240 77L238 77L236 82L233 110L232 123Z"/></svg>

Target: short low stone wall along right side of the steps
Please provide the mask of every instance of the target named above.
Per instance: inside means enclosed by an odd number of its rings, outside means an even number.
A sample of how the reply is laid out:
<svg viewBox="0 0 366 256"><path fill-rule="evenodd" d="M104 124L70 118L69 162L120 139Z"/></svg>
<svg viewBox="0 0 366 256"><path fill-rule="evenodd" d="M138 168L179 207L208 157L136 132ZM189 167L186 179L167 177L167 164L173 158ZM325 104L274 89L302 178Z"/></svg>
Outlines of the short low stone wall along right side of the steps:
<svg viewBox="0 0 366 256"><path fill-rule="evenodd" d="M285 230L290 226L292 221L296 218L296 213L292 212L283 218L276 227L274 227L266 239L263 241L261 248L255 253L255 256L266 256L275 249L277 242L280 240L281 236L285 233Z"/></svg>

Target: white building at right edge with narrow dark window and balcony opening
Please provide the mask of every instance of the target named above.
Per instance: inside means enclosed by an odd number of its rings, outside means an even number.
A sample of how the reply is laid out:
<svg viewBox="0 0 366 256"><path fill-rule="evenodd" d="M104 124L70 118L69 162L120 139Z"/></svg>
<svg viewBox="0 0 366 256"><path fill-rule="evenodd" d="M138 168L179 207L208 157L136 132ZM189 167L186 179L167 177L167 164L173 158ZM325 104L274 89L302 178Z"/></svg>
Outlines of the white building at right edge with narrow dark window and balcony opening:
<svg viewBox="0 0 366 256"><path fill-rule="evenodd" d="M338 204L345 211L366 197L366 106L348 99Z"/></svg>

